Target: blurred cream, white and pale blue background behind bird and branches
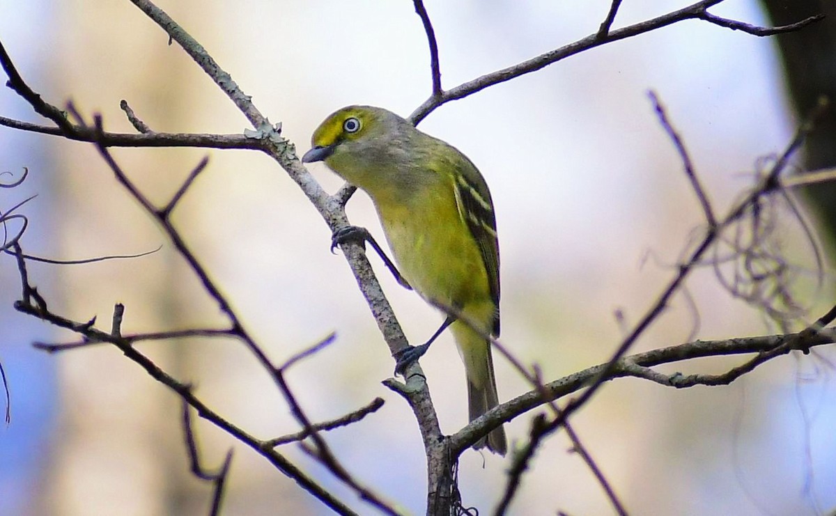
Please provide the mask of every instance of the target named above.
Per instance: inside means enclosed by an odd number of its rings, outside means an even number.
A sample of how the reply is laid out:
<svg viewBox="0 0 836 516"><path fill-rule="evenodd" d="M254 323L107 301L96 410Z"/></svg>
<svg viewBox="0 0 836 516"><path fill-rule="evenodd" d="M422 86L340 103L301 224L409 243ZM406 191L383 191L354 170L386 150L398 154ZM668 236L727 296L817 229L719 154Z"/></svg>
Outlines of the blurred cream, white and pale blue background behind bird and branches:
<svg viewBox="0 0 836 516"><path fill-rule="evenodd" d="M209 0L160 2L285 136L308 148L319 121L344 104L409 114L429 92L426 40L407 0L343 2ZM616 25L680 8L625 3ZM594 32L609 0L555 3L429 1L446 87L517 63ZM751 0L714 13L765 23ZM0 37L46 99L73 99L130 131L127 99L152 129L241 132L246 122L181 48L125 0L0 0ZM727 206L750 185L758 157L787 143L794 121L781 69L767 38L688 22L569 58L538 73L438 109L421 129L455 144L480 167L497 208L502 245L502 340L548 379L604 361L673 272L701 222L681 164L655 119L654 89L681 130L711 196ZM43 122L8 89L0 114ZM192 149L118 149L115 155L149 195L163 202L204 154L209 168L176 213L176 223L247 328L275 362L330 331L338 340L294 367L292 387L314 419L337 417L385 397L366 421L329 434L364 483L421 513L422 448L405 403L380 381L392 361L329 231L283 170L261 154ZM55 258L161 252L87 266L31 267L50 307L109 325L125 303L125 331L219 324L159 230L115 184L89 144L0 129L0 169L30 180L0 191L8 209L28 195L33 254ZM330 191L340 182L311 167ZM356 195L349 217L380 235L370 202ZM793 245L798 226L786 227ZM653 258L646 257L652 255ZM792 250L809 264L803 245ZM403 291L372 259L407 332L421 341L441 316ZM110 347L50 357L34 340L72 336L14 312L13 260L0 262L0 360L12 390L13 421L0 429L0 514L205 513L210 488L191 478L175 396ZM710 271L689 289L701 338L773 331L734 301ZM637 345L685 341L694 328L677 298ZM219 412L259 437L296 429L268 376L232 341L141 347ZM609 383L573 419L600 467L637 514L806 514L836 505L836 409L831 350L785 357L731 387L674 391L649 382ZM720 372L741 359L681 364L670 371ZM422 359L443 429L466 422L463 369L449 336ZM497 360L500 397L527 390ZM508 424L524 438L528 417ZM227 513L329 511L262 458L215 428L198 426L208 463L236 448ZM563 437L538 453L515 513L608 513L588 469ZM288 456L333 487L360 513L373 513L296 448ZM483 466L484 463L484 466ZM466 453L466 505L489 511L507 459Z"/></svg>

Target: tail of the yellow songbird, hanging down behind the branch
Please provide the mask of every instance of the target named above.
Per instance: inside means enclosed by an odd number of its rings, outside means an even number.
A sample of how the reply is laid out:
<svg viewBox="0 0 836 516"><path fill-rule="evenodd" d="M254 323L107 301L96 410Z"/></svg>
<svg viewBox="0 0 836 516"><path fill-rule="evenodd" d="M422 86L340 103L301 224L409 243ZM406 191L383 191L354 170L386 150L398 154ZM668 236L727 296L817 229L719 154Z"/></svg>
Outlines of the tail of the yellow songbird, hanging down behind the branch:
<svg viewBox="0 0 836 516"><path fill-rule="evenodd" d="M467 405L470 408L470 420L473 421L499 404L491 344L463 322L454 322L451 331L456 337L461 358L465 362ZM502 426L494 428L487 434L487 438L479 439L473 448L486 446L493 453L505 455L507 440Z"/></svg>

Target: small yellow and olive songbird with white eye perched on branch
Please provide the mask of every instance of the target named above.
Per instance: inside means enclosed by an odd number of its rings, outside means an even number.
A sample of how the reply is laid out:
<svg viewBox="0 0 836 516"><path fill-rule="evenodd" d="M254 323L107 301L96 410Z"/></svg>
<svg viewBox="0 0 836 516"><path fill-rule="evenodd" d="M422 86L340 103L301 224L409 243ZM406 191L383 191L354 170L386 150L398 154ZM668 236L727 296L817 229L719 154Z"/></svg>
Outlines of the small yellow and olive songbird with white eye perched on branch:
<svg viewBox="0 0 836 516"><path fill-rule="evenodd" d="M331 114L302 161L324 161L370 195L402 279L436 306L453 307L499 335L499 244L491 192L464 154L409 121L370 106ZM465 363L471 421L498 404L490 343L448 316ZM413 348L409 359L426 352ZM399 361L399 367L402 364ZM474 445L504 455L502 426Z"/></svg>

